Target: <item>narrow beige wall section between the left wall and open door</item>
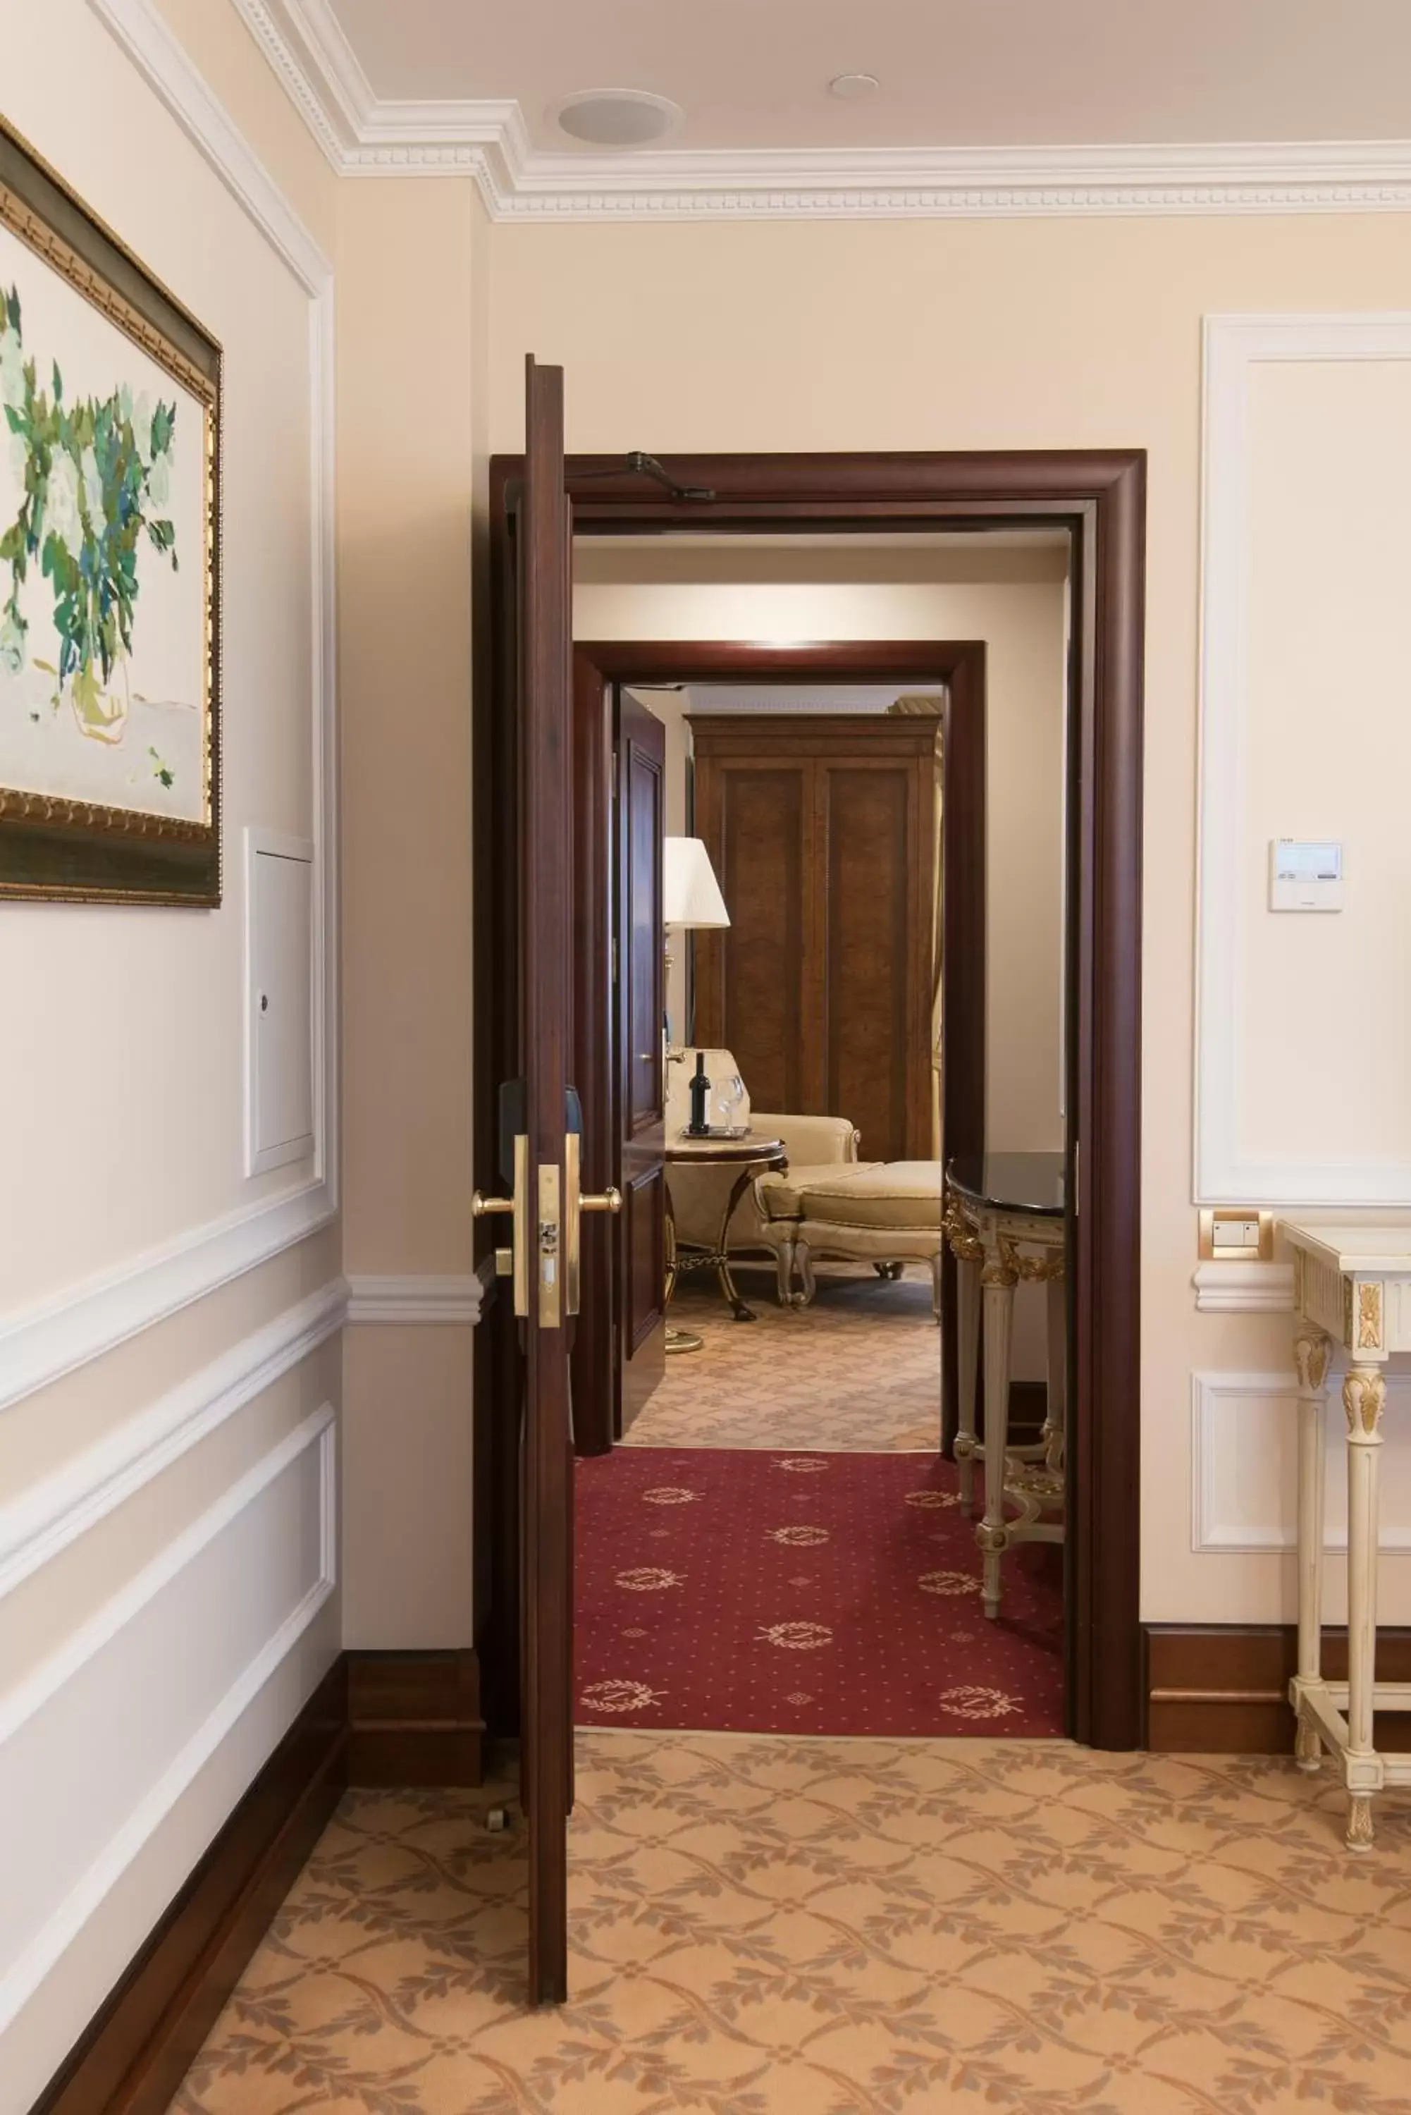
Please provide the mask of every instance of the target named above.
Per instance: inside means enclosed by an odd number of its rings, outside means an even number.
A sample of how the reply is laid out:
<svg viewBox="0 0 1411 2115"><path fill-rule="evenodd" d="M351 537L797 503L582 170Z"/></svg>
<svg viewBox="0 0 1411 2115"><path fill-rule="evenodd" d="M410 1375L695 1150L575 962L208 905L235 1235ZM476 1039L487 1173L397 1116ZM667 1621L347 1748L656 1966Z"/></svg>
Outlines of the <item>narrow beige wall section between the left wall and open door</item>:
<svg viewBox="0 0 1411 2115"><path fill-rule="evenodd" d="M472 1263L470 656L482 241L470 182L341 190L345 1265L353 1284L362 1275L463 1275ZM360 1324L347 1332L349 1645L470 1643L470 1326Z"/></svg>

